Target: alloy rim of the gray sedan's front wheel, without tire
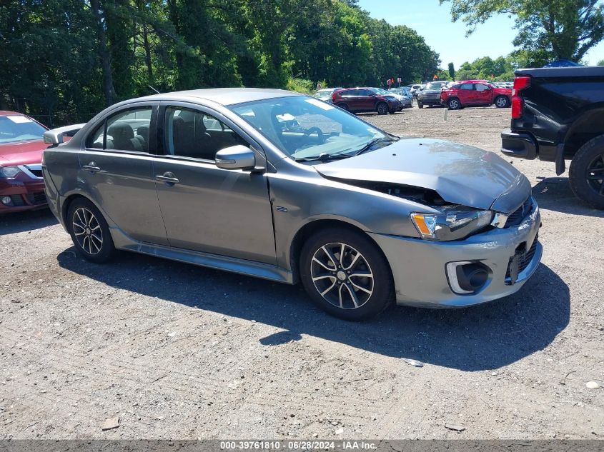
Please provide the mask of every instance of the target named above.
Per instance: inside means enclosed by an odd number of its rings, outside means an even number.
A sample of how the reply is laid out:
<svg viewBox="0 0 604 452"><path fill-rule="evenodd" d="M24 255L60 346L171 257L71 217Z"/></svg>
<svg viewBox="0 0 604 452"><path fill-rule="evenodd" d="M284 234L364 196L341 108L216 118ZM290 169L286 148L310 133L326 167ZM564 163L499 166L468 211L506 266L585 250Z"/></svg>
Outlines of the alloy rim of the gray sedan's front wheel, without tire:
<svg viewBox="0 0 604 452"><path fill-rule="evenodd" d="M312 256L310 275L320 295L338 308L360 308L373 293L369 263L346 243L327 243L317 249Z"/></svg>

